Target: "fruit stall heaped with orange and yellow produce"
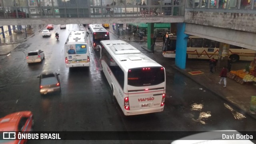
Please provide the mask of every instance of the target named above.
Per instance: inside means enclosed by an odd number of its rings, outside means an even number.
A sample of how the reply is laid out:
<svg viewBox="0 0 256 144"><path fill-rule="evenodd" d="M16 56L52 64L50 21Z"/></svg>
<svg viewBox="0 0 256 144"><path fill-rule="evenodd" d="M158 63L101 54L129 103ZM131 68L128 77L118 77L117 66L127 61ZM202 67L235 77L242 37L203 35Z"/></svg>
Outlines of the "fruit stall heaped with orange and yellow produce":
<svg viewBox="0 0 256 144"><path fill-rule="evenodd" d="M240 84L255 84L256 83L256 60L245 66L242 70L231 70L227 77L235 80Z"/></svg>

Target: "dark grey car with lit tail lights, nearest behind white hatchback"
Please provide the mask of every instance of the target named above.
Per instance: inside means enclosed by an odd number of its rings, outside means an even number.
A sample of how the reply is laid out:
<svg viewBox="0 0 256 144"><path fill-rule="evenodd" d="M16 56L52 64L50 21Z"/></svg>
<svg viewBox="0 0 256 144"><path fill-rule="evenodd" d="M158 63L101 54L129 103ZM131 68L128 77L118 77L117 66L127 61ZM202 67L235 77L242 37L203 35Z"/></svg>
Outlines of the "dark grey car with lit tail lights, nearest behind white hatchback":
<svg viewBox="0 0 256 144"><path fill-rule="evenodd" d="M56 72L45 72L38 76L40 78L40 94L61 92L59 75Z"/></svg>

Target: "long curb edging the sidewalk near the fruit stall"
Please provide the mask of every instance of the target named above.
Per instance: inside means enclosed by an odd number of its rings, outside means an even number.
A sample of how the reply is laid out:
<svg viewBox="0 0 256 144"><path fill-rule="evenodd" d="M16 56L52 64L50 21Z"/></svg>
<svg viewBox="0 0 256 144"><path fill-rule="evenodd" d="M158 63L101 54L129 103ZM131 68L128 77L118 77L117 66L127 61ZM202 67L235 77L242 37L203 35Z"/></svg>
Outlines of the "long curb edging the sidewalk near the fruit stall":
<svg viewBox="0 0 256 144"><path fill-rule="evenodd" d="M192 78L189 74L187 74L186 72L184 72L183 70L181 70L180 68L178 68L175 65L171 65L171 67L175 70L177 70L178 72L184 74L185 76L187 76L188 78L190 78L191 80L193 80L194 82L196 82L197 84L199 84L200 86L202 86L203 88L209 90L210 92L212 92L213 94L219 96L220 98L222 98L223 100L226 100L229 104L231 104L232 106L234 106L237 110L240 110L240 112L242 112L243 114L247 114L248 116L250 116L253 119L256 119L255 116L253 114L251 114L250 112L243 110L242 108L240 108L237 104L234 104L232 102L230 102L230 100L228 100L225 96L222 96L218 93L216 93L214 90L211 90L210 88L208 88L208 86L204 86L202 85L200 82L198 82L196 79Z"/></svg>

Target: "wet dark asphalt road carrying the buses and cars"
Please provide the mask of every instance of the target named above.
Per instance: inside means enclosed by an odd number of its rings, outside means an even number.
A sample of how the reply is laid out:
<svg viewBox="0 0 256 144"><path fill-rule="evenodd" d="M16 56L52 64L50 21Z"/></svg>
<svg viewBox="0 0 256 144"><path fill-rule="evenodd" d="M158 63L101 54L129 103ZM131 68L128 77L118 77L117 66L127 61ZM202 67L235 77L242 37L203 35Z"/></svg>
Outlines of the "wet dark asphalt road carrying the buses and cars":
<svg viewBox="0 0 256 144"><path fill-rule="evenodd" d="M232 109L218 96L200 90L200 85L173 70L174 60L157 59L143 50L140 43L130 42L144 54L166 68L166 100L164 112L124 116L110 92L110 86L99 66L99 58L90 48L90 68L66 68L64 43L77 25L66 30L54 26L52 36L41 33L23 42L10 56L0 61L0 117L12 112L30 110L34 114L34 131L254 131L255 120ZM56 41L54 33L60 33ZM110 39L118 39L111 35ZM89 42L89 41L88 41ZM90 42L89 42L90 43ZM44 51L42 63L28 65L30 50ZM43 71L60 74L61 94L40 96L39 79ZM87 141L90 143L156 143L172 140ZM48 141L30 141L29 144ZM50 141L50 143L74 143ZM84 143L84 141L76 141Z"/></svg>

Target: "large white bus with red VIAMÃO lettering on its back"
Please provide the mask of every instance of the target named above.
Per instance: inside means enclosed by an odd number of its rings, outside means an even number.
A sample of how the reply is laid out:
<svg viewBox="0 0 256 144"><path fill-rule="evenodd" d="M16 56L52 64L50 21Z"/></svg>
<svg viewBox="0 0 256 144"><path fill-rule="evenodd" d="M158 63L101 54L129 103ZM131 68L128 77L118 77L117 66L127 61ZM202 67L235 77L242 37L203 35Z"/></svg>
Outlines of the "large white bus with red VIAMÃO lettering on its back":
<svg viewBox="0 0 256 144"><path fill-rule="evenodd" d="M122 40L100 43L102 70L124 115L162 112L165 68Z"/></svg>

